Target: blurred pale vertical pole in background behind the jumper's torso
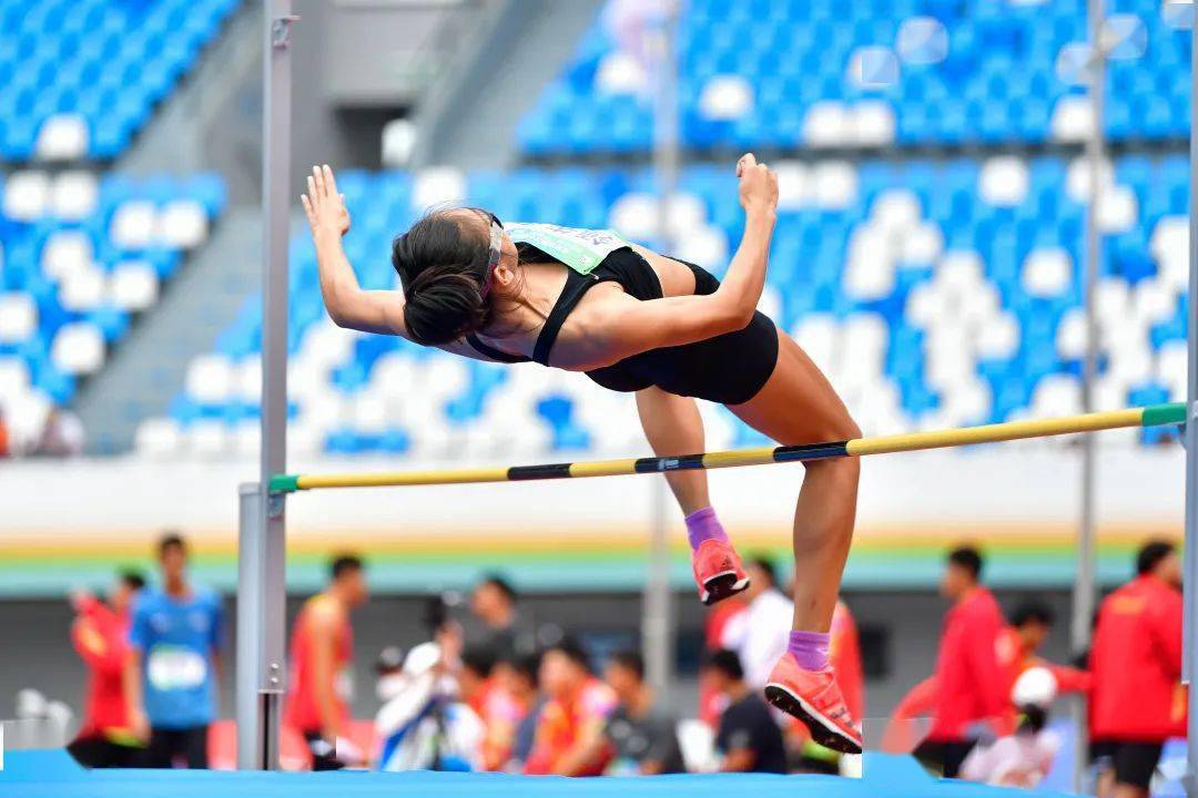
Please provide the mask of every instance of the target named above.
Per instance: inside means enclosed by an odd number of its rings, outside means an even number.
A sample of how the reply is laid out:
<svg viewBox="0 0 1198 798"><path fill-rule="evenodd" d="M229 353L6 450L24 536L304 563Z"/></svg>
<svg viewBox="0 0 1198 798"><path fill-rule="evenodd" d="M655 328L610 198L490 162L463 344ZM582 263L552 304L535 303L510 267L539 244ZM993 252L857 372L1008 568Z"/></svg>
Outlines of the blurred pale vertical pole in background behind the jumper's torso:
<svg viewBox="0 0 1198 798"><path fill-rule="evenodd" d="M673 251L670 201L678 184L678 63L674 33L677 4L660 4L661 17L646 30L645 48L653 60L653 169L658 183L658 245ZM673 682L674 628L670 595L670 495L665 479L654 480L648 578L645 583L641 635L649 684L662 698ZM666 699L668 700L668 699Z"/></svg>

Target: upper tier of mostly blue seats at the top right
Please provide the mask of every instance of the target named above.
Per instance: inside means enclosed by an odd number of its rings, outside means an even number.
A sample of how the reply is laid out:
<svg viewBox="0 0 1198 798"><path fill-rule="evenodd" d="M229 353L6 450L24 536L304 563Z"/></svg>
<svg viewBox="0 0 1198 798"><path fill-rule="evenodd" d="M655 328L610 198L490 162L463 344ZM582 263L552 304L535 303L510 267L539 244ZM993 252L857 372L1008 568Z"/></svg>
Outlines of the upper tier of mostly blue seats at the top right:
<svg viewBox="0 0 1198 798"><path fill-rule="evenodd" d="M652 67L639 16L609 0L574 60L520 127L525 152L648 150ZM1163 140L1190 129L1192 6L1108 4L1106 129ZM1084 0L692 0L682 4L682 141L695 150L1078 141ZM622 22L621 22L622 20ZM1145 57L1136 57L1144 51Z"/></svg>

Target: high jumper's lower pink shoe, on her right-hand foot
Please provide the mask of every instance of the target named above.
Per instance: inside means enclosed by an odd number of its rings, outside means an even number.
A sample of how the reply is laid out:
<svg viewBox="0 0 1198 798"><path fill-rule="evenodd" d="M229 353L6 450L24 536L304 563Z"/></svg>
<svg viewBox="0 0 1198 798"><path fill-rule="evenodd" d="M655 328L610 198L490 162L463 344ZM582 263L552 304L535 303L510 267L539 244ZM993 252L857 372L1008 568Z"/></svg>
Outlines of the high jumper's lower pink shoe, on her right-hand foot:
<svg viewBox="0 0 1198 798"><path fill-rule="evenodd" d="M861 735L853 725L830 668L806 670L787 652L769 674L766 700L805 723L811 738L824 748L842 754L861 753Z"/></svg>

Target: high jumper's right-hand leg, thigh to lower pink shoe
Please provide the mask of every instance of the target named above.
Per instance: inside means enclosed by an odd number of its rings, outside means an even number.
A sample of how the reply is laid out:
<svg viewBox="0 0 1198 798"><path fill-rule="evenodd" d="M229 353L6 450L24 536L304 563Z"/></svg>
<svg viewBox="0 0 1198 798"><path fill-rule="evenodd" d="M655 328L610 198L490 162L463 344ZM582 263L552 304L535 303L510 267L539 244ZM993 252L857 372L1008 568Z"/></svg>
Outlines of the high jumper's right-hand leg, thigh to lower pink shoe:
<svg viewBox="0 0 1198 798"><path fill-rule="evenodd" d="M751 400L730 409L782 445L860 435L811 358L779 330L778 365ZM766 698L811 729L817 743L860 750L860 735L828 664L828 632L857 519L855 457L805 463L794 507L794 625L787 653L770 674Z"/></svg>

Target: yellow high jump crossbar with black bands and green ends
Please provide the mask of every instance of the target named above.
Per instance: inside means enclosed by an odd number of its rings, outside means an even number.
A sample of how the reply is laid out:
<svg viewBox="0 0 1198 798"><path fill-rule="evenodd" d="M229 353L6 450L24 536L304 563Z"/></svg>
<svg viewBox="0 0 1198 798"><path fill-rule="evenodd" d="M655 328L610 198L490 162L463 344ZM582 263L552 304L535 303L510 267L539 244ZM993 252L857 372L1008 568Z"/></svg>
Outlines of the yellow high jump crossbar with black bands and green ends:
<svg viewBox="0 0 1198 798"><path fill-rule="evenodd" d="M509 465L491 468L461 468L441 470L381 471L375 474L284 474L271 479L272 494L295 493L323 488L401 487L413 485L467 485L478 482L521 482L531 480L568 480L588 476L628 476L661 474L665 471L712 470L742 465L797 463L859 457L894 452L921 451L999 443L1025 438L1047 438L1127 427L1158 427L1185 421L1185 404L1151 404L1148 407L1087 413L1055 419L1008 421L978 427L912 432L878 438L854 438L798 446L763 446L734 451L714 451L671 457L640 457L627 459L585 461L579 463L546 463L543 465Z"/></svg>

